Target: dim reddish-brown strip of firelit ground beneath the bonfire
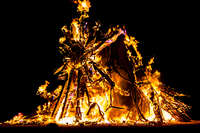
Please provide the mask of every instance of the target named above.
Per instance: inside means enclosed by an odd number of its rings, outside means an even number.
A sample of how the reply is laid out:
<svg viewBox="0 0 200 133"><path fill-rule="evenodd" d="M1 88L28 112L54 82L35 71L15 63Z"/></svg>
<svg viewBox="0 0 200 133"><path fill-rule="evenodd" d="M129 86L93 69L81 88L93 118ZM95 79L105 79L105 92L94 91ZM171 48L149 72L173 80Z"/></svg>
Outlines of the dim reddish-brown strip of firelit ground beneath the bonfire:
<svg viewBox="0 0 200 133"><path fill-rule="evenodd" d="M176 127L181 127L181 128L198 128L200 127L200 121L193 120L191 122L176 122L176 123L164 123L164 124L155 124L155 123L138 123L135 125L127 125L127 124L122 124L122 125L115 125L115 124L88 124L88 125L83 125L79 124L77 126L71 126L71 125L56 125L56 124L48 124L48 125L41 125L41 124L27 124L27 125L10 125L10 124L0 124L0 128L19 128L19 129L42 129L42 128L52 128L52 129L64 129L64 130L89 130L91 129L126 129L126 128L176 128Z"/></svg>

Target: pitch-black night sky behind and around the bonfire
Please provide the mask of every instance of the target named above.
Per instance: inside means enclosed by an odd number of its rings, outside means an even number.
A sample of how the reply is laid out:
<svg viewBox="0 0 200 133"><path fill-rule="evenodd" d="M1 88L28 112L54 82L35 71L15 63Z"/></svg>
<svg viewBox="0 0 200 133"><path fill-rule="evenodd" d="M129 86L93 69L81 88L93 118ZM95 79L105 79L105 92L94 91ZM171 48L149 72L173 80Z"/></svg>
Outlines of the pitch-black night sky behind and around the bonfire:
<svg viewBox="0 0 200 133"><path fill-rule="evenodd" d="M93 0L91 16L105 26L124 24L139 40L144 58L165 84L190 95L191 116L200 120L199 27L197 2ZM8 1L1 4L0 121L29 114L41 103L38 86L58 66L60 28L71 22L71 0Z"/></svg>

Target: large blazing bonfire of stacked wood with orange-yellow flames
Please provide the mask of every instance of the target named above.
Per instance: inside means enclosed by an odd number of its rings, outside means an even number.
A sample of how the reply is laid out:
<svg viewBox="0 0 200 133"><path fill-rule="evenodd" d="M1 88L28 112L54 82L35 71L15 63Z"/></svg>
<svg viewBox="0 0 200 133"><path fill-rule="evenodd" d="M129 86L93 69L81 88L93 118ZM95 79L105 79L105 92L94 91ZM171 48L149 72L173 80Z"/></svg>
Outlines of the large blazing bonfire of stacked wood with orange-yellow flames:
<svg viewBox="0 0 200 133"><path fill-rule="evenodd" d="M102 33L98 22L91 26L88 21L90 1L74 3L79 17L70 27L63 26L64 36L59 40L63 64L54 75L60 84L53 91L48 91L49 81L39 87L37 94L47 102L38 106L35 115L19 113L5 123L134 125L190 121L189 106L175 98L184 95L162 84L160 72L151 66L154 58L144 65L138 41L125 27L111 27Z"/></svg>

